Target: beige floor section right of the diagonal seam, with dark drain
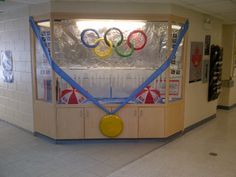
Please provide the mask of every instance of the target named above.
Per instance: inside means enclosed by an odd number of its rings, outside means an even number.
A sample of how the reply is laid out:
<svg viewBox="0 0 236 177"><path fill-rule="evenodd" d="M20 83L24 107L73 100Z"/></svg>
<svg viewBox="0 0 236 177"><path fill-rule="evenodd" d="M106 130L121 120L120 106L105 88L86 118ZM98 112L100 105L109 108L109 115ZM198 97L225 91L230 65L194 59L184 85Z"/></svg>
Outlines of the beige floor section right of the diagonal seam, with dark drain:
<svg viewBox="0 0 236 177"><path fill-rule="evenodd" d="M236 108L109 177L236 177Z"/></svg>

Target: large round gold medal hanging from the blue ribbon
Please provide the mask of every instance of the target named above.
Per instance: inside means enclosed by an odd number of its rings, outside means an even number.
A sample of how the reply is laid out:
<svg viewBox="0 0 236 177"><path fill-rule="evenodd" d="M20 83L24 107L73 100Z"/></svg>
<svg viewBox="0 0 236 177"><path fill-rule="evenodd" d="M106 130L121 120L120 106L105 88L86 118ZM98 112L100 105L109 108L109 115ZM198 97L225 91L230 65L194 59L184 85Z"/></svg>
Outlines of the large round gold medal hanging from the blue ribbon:
<svg viewBox="0 0 236 177"><path fill-rule="evenodd" d="M117 115L106 115L100 121L100 131L103 135L115 138L123 131L123 121Z"/></svg>

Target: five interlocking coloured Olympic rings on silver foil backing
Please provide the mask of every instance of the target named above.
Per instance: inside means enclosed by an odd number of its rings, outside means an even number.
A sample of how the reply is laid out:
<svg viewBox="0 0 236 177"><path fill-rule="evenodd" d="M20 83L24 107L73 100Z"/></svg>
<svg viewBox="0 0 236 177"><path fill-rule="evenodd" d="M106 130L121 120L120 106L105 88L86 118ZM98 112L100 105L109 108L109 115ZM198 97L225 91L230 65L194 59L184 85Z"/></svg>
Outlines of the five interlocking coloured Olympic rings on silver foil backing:
<svg viewBox="0 0 236 177"><path fill-rule="evenodd" d="M110 39L108 39L108 33L111 31L118 31L120 34L120 39L113 44L112 41ZM87 32L93 32L95 33L97 39L94 41L94 44L89 44L88 42L85 41L85 35ZM142 45L141 46L135 46L135 42L132 42L132 37L136 34L141 34L142 37L140 37L141 39L143 39ZM108 46L108 48L105 51L101 50L101 47L99 47L99 43L104 41L104 43ZM129 46L130 51L127 53L121 53L121 51L118 49L118 47L123 43L124 41L124 36L123 33L120 29L118 28L109 28L105 33L103 38L100 37L99 33L95 30L95 29L85 29L82 31L81 33L81 42L84 44L85 47L87 48L93 48L94 53L101 59L106 59L109 56L112 55L112 51L113 48L115 49L115 52L117 53L117 55L119 55L120 57L130 57L133 52L136 50L141 50L145 47L146 43L147 43L147 35L145 34L144 31L142 30L134 30L132 31L126 40L126 44Z"/></svg>

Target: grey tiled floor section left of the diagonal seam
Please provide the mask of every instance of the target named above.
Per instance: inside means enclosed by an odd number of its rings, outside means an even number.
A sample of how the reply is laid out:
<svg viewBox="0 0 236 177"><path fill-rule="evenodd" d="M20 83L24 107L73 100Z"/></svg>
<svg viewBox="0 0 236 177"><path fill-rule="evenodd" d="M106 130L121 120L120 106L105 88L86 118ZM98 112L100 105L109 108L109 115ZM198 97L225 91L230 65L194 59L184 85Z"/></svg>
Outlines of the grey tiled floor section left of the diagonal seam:
<svg viewBox="0 0 236 177"><path fill-rule="evenodd" d="M0 177L105 177L163 144L158 140L53 144L0 121Z"/></svg>

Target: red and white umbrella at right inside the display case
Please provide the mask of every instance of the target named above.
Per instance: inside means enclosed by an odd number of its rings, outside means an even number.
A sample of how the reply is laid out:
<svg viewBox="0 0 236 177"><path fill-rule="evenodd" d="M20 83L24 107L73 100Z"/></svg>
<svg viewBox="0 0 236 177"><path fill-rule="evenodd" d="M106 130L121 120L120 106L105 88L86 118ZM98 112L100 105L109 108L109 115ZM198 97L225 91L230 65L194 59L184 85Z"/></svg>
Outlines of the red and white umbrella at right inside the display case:
<svg viewBox="0 0 236 177"><path fill-rule="evenodd" d="M156 104L161 101L160 92L151 86L147 86L136 96L136 102L141 104Z"/></svg>

